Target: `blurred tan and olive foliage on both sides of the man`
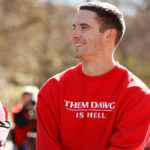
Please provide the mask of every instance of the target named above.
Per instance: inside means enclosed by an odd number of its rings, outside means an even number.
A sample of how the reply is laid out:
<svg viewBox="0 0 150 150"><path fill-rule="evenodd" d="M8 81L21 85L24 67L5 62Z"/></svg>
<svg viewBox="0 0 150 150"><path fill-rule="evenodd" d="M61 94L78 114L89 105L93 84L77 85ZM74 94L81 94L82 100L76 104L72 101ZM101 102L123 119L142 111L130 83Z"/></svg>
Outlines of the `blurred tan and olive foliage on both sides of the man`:
<svg viewBox="0 0 150 150"><path fill-rule="evenodd" d="M109 0L110 1L110 0ZM119 0L111 0L119 5ZM23 85L41 87L78 62L71 43L75 9L38 0L0 0L0 99L13 105ZM127 31L116 58L150 85L150 2L126 16Z"/></svg>

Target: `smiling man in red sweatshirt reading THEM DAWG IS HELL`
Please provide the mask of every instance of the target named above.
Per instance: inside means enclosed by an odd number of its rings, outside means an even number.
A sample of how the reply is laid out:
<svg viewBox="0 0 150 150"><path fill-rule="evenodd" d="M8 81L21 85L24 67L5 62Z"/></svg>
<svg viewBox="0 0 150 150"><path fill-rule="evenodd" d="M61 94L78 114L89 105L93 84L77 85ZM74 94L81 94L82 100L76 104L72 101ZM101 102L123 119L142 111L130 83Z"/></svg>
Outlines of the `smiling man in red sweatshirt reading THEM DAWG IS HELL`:
<svg viewBox="0 0 150 150"><path fill-rule="evenodd" d="M125 31L123 15L108 3L85 3L72 28L82 62L41 88L37 150L143 150L150 92L113 57Z"/></svg>

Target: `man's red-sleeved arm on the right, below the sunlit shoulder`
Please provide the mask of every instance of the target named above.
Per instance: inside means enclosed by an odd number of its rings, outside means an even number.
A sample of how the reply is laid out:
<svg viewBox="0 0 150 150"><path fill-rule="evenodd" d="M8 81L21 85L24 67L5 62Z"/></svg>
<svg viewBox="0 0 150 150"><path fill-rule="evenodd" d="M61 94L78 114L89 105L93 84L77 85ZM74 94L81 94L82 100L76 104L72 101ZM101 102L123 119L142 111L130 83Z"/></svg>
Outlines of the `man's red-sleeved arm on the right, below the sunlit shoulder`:
<svg viewBox="0 0 150 150"><path fill-rule="evenodd" d="M149 138L150 94L127 104L105 150L143 150Z"/></svg>

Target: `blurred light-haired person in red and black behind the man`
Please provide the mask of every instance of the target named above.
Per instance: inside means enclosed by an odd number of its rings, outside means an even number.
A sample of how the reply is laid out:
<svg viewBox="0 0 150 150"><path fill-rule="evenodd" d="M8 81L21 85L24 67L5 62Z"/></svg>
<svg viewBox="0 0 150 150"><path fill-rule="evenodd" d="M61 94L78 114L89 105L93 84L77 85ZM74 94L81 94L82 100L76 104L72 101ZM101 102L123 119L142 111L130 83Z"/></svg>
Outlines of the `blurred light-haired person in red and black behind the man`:
<svg viewBox="0 0 150 150"><path fill-rule="evenodd" d="M34 150L36 137L35 106L39 89L25 86L21 95L21 104L12 108L14 129L12 140L14 150ZM33 137L32 137L33 136Z"/></svg>

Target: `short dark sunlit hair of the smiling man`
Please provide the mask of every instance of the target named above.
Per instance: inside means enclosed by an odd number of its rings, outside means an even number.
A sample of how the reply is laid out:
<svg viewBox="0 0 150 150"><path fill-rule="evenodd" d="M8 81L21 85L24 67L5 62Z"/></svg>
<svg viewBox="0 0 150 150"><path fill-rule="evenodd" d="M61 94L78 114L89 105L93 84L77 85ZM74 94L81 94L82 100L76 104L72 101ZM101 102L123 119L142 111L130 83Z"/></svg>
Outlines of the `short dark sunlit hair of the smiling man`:
<svg viewBox="0 0 150 150"><path fill-rule="evenodd" d="M107 29L116 29L117 35L115 44L117 45L125 32L124 16L120 10L112 4L105 2L87 2L78 7L79 10L89 10L96 13L96 19L101 24L100 32Z"/></svg>

